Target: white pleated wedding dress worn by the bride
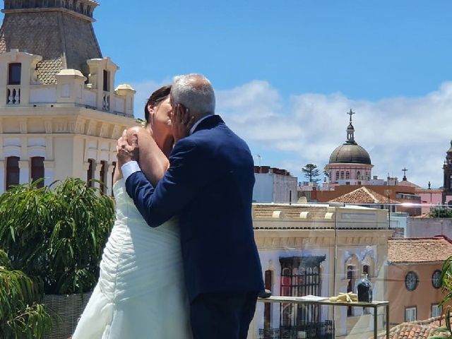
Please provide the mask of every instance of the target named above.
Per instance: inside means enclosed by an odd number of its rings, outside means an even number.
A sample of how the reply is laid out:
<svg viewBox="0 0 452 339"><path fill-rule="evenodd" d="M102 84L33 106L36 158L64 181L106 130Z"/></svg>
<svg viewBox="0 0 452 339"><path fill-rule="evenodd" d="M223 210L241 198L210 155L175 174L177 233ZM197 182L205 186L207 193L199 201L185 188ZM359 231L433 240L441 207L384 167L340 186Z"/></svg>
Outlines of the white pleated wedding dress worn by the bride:
<svg viewBox="0 0 452 339"><path fill-rule="evenodd" d="M73 339L190 339L179 225L149 227L126 193L113 186L116 222L100 277Z"/></svg>

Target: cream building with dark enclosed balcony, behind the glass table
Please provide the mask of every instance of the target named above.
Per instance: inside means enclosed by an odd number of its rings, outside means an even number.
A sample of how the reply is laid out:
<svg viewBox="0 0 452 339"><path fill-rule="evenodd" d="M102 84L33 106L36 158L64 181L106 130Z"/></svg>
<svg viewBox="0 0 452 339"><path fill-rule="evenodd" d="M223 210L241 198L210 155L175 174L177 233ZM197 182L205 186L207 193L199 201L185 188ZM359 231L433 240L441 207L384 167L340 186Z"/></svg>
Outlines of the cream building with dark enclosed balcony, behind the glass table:
<svg viewBox="0 0 452 339"><path fill-rule="evenodd" d="M256 244L273 295L329 297L356 292L366 272L374 300L387 300L388 211L326 204L254 204ZM258 303L249 338L369 338L372 310ZM379 309L379 331L384 314ZM285 335L288 335L286 332Z"/></svg>

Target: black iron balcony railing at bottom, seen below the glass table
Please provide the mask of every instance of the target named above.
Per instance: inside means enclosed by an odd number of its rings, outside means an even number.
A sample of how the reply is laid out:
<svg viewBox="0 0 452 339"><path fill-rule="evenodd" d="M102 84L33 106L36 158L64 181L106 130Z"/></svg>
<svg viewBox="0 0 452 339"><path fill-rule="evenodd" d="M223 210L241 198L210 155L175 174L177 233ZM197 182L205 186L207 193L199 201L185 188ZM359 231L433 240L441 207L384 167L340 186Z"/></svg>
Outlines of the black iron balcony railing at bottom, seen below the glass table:
<svg viewBox="0 0 452 339"><path fill-rule="evenodd" d="M307 323L302 326L260 328L259 339L333 339L333 321Z"/></svg>

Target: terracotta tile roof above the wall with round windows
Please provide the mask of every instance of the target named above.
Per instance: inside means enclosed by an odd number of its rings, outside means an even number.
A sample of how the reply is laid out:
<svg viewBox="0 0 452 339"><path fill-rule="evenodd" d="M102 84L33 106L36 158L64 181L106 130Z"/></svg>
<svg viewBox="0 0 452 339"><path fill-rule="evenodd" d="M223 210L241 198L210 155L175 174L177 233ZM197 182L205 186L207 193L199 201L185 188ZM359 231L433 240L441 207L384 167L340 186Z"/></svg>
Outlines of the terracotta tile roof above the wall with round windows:
<svg viewBox="0 0 452 339"><path fill-rule="evenodd" d="M390 238L388 261L391 263L429 263L452 256L452 242L446 237Z"/></svg>

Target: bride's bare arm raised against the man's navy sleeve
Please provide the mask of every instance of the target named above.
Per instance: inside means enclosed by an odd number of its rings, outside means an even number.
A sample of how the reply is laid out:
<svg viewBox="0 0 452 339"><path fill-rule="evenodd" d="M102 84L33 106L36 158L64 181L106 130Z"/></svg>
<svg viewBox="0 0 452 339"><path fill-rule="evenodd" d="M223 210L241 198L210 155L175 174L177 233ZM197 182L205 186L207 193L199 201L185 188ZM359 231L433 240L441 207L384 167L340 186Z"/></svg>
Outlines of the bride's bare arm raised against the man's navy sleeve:
<svg viewBox="0 0 452 339"><path fill-rule="evenodd" d="M169 167L169 161L162 150L155 143L154 138L142 127L131 127L127 129L127 140L131 144L133 134L138 135L138 146L140 157L138 163L141 171L153 186L162 179Z"/></svg>

